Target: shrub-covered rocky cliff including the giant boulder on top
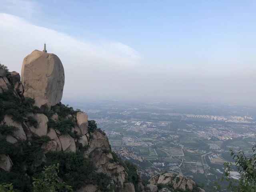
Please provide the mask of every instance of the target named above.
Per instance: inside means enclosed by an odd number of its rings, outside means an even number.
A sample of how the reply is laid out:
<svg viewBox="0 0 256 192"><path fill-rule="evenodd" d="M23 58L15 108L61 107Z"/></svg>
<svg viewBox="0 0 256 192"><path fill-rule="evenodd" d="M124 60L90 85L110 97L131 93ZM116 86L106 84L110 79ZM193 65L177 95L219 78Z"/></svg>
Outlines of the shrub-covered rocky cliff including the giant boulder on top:
<svg viewBox="0 0 256 192"><path fill-rule="evenodd" d="M60 103L63 85L53 54L35 50L24 58L22 82L0 66L0 183L31 191L32 177L59 163L60 177L75 191L144 191L136 166L111 151L96 123Z"/></svg>

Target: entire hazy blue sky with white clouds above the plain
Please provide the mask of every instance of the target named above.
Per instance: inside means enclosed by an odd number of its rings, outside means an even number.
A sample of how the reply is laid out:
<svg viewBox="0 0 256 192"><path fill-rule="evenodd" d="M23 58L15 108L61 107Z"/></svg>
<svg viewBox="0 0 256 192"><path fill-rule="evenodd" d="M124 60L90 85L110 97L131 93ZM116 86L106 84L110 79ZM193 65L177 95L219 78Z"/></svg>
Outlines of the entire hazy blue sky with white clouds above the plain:
<svg viewBox="0 0 256 192"><path fill-rule="evenodd" d="M0 62L43 49L64 98L256 104L256 0L0 0Z"/></svg>

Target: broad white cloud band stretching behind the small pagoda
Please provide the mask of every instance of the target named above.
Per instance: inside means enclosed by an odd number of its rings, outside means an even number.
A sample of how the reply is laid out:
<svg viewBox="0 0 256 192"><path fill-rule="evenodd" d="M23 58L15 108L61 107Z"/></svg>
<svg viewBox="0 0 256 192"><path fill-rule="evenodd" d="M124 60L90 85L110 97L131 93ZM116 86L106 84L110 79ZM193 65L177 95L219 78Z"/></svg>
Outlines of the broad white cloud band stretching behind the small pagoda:
<svg viewBox="0 0 256 192"><path fill-rule="evenodd" d="M98 45L80 42L66 34L35 26L10 14L0 13L0 29L0 36L4 39L2 45L6 45L0 53L1 58L6 58L4 55L10 55L15 51L18 53L15 58L20 56L21 61L32 50L42 49L43 43L46 42L48 51L58 54L64 65L72 60L75 61L72 62L72 66L82 68L88 66L122 68L136 66L140 60L136 50L120 42L104 42Z"/></svg>

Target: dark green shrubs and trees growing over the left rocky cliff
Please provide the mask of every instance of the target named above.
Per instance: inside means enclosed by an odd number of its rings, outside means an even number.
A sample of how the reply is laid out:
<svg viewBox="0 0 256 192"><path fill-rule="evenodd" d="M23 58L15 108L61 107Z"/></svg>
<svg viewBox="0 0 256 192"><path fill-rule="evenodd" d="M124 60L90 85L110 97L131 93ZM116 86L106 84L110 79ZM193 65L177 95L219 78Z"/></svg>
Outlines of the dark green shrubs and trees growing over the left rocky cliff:
<svg viewBox="0 0 256 192"><path fill-rule="evenodd" d="M0 121L3 120L4 115L9 114L15 121L24 122L25 120L30 126L36 127L38 122L28 114L42 113L42 110L33 104L33 99L17 97L14 88L10 87L0 94ZM49 118L48 127L59 130L61 134L68 133L73 138L80 138L80 135L73 130L76 125L74 115L79 111L61 103L57 104L50 112L45 113ZM56 121L50 119L54 113L58 114ZM94 120L88 121L88 124L90 133L99 130L104 134L97 128ZM81 148L82 150L77 153L61 151L45 154L42 146L50 141L48 136L30 136L28 140L18 140L15 144L7 142L6 135L14 135L17 129L15 126L0 125L0 154L9 155L14 164L10 172L0 172L2 190L15 188L15 191L26 192L71 191L72 188L76 190L85 184L96 184L101 191L108 191L110 187L115 188L111 186L110 176L97 173L91 158L84 158L83 152L86 148ZM106 151L108 152L111 150ZM136 166L130 162L123 162L117 155L114 158L125 167L129 174L128 180L134 183L138 192L139 178Z"/></svg>

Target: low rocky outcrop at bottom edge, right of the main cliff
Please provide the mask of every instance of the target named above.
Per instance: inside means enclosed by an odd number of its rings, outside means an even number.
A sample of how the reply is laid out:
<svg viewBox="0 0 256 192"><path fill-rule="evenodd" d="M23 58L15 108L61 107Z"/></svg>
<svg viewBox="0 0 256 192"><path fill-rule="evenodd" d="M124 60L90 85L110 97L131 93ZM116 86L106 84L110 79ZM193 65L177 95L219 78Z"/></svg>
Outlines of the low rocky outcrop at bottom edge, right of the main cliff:
<svg viewBox="0 0 256 192"><path fill-rule="evenodd" d="M193 190L197 192L204 192L204 190L198 186L196 186L195 182L193 180L190 180L183 176L182 174L172 174L170 172L166 172L164 174L155 175L149 180L150 184L148 184L148 187L153 188L154 186L157 186L156 184L163 184L166 186L166 188L158 189L158 191L162 192L169 192L173 190ZM172 186L170 188L170 186ZM152 190L150 189L150 192Z"/></svg>

